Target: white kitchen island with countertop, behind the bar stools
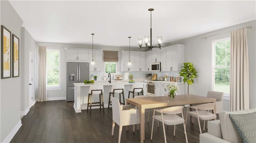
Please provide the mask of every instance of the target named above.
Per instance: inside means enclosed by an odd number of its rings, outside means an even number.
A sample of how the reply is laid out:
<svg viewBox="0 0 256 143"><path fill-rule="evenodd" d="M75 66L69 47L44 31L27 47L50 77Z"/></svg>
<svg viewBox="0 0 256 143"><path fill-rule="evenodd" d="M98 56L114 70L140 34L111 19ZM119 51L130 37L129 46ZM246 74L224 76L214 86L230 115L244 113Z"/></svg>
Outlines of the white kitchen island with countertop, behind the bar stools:
<svg viewBox="0 0 256 143"><path fill-rule="evenodd" d="M129 83L128 81L111 81L109 82L95 82L94 84L101 84L104 87L104 92L103 92L103 100L104 100L104 108L108 107L108 99L109 99L109 90L111 90L112 85L114 84L124 84L124 98L128 98L128 90L132 88L132 84L136 83L142 83L142 84L147 84L142 82L135 82L135 83ZM74 110L76 113L82 112L81 110L86 110L87 109L87 101L88 101L88 90L89 87L92 84L84 84L84 83L74 83ZM144 95L146 95L147 91L144 90ZM116 94L115 97L119 98L119 95ZM121 97L122 98L122 97ZM98 96L92 96L92 101L98 101L99 97ZM124 100L126 101L126 100ZM99 107L92 107L93 108L99 108Z"/></svg>

